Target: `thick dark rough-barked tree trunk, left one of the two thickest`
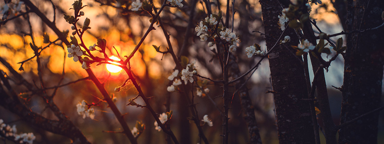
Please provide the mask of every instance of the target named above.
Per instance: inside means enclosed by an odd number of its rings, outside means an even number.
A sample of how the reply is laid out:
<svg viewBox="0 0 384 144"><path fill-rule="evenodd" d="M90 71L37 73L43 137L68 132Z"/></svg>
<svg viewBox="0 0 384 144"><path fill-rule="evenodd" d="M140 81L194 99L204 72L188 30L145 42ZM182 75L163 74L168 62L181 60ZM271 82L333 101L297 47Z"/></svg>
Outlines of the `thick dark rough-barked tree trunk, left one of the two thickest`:
<svg viewBox="0 0 384 144"><path fill-rule="evenodd" d="M262 0L266 46L272 48L282 31L278 27L281 6L276 0ZM278 138L281 144L314 144L313 122L310 104L301 100L308 98L302 62L289 45L297 45L298 38L292 29L285 32L291 41L277 46L268 56L275 100Z"/></svg>

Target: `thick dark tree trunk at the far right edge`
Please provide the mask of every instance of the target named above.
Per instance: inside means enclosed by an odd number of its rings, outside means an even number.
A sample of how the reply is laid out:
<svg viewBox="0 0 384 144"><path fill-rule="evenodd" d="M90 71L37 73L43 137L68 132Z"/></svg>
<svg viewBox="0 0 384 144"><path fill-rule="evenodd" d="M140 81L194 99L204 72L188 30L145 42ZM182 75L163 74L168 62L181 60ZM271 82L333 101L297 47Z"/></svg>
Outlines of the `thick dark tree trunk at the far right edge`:
<svg viewBox="0 0 384 144"><path fill-rule="evenodd" d="M383 5L382 0L348 0L348 31L381 25ZM340 123L379 107L383 78L383 32L380 28L347 35ZM340 129L339 143L377 144L378 116L379 113L370 114Z"/></svg>

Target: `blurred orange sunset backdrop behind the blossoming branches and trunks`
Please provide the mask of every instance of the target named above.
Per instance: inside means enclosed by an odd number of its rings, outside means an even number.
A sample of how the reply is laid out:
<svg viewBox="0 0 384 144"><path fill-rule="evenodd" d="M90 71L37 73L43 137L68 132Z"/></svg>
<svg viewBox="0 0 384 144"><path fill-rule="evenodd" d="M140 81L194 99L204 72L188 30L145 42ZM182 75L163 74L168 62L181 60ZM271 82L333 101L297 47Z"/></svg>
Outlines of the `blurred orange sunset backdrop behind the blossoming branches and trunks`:
<svg viewBox="0 0 384 144"><path fill-rule="evenodd" d="M71 0L31 0L41 12L45 13L51 21L55 19L56 26L61 31L70 30L71 25L65 22L63 14L73 15L72 7L73 1ZM185 35L188 20L190 18L189 13L193 0L184 0L184 7L182 8L164 8L160 17L164 23L164 26L170 34L170 40L174 48L175 53L182 51L182 55L189 58L189 61L196 60L197 70L202 76L209 77L211 79L220 79L222 77L220 65L217 59L213 59L214 53L210 51L207 46L207 41L200 41L199 36L196 36L196 32L193 30L202 19L206 17L207 10L205 5L203 7L202 1L197 1L194 22L189 29L190 35ZM83 5L85 15L80 17L79 23L86 17L91 20L90 30L84 33L84 44L88 47L96 43L97 38L104 38L107 41L107 54L109 56L117 56L113 46L119 51L121 56L129 55L137 43L140 41L142 35L150 25L150 15L146 12L134 13L129 11L131 0L84 0ZM218 2L220 8L225 13L226 0L212 1L212 13L218 13ZM334 8L329 0L322 0L323 4L314 5L311 3L312 11L311 18L316 19L317 25L324 33L338 33L343 30L341 23L334 13ZM55 11L52 7L52 3L56 6ZM159 8L162 1L154 1L155 7ZM9 7L7 13L4 13L5 5ZM28 22L31 23L33 31L33 39L37 46L46 46L43 43L43 33L48 33L50 40L56 40L57 36L53 31L41 21L41 19L34 13L29 13L28 18L23 15L21 17L14 18L9 21L4 21L24 12L27 12L26 6L20 4L18 0L11 0L10 2L1 1L0 8L2 10L2 22L0 22L0 57L4 58L12 65L15 70L20 68L19 62L31 58L34 53L30 48L29 43L32 41L29 33L30 27ZM20 9L18 7L20 6ZM263 22L261 15L261 7L258 0L236 0L235 2L235 21L233 23L234 32L240 36L240 47L237 48L234 54L237 58L237 62L240 67L241 73L245 73L253 65L260 60L260 57L253 56L247 58L245 55L245 47L258 43L262 46L262 50L265 48L264 36L260 33L252 31L263 30ZM232 8L230 8L232 12ZM56 15L55 15L56 14ZM277 17L277 15L276 15ZM276 22L278 23L278 22ZM156 24L155 24L156 25ZM154 25L154 26L155 26ZM189 109L186 106L186 102L181 98L179 93L169 93L166 89L169 83L167 77L172 72L175 64L170 55L163 55L157 53L152 45L161 45L161 50L166 50L166 39L160 27L155 26L157 30L151 31L144 43L141 45L139 51L131 59L132 70L137 77L137 81L141 84L144 93L147 96L155 96L151 99L151 105L156 113L166 112L164 104L166 103L167 96L170 95L170 109L174 111L170 125L172 131L174 131L178 139L189 139L190 144L196 144L199 142L199 136L197 128L193 123L187 120L190 117ZM316 29L315 29L316 30ZM69 39L69 38L68 38ZM187 43L184 50L181 50L182 45L186 39ZM336 41L336 37L334 41ZM345 40L345 37L344 37ZM63 79L64 83L76 81L77 79L84 78L87 75L86 71L81 68L79 63L76 63L72 58L66 57L68 51L58 45L51 45L41 52L41 63L43 65L43 81L47 87L56 86L61 78L61 74L64 68L65 74ZM99 55L99 54L97 54ZM329 57L331 58L331 57ZM324 55L324 59L326 55ZM327 59L328 60L328 59ZM326 73L326 82L329 93L329 101L331 104L331 112L334 122L339 123L339 114L341 109L341 92L331 86L341 87L343 85L343 71L344 61L341 55L333 61L329 67L328 73ZM37 76L37 64L36 58L23 64L24 71L18 71L24 76L30 83L39 84L39 78ZM9 73L8 69L0 64L0 69ZM104 87L107 89L111 96L117 98L116 105L122 114L126 114L124 117L130 127L133 127L136 121L142 121L146 125L146 129L137 139L142 144L165 144L166 134L162 131L157 131L154 128L154 118L146 108L136 108L136 106L126 106L129 103L128 99L134 98L138 93L131 83L128 83L121 89L121 92L116 93L114 88L124 83L127 79L127 75L124 71L111 72L108 70L105 64L96 66L91 65L91 69L98 77L99 81L104 83ZM311 67L310 67L311 69ZM310 71L311 73L311 71ZM313 73L310 74L313 78ZM23 86L17 86L15 83L11 83L17 93L28 93L28 90ZM255 114L257 117L257 123L260 127L260 134L264 144L277 144L277 131L276 131L276 119L273 105L273 94L266 91L272 90L270 82L270 70L268 60L263 60L258 67L255 74L247 83L250 96L252 98L253 106L255 107ZM210 89L209 96L214 99L214 102L221 107L222 89L217 85L209 84ZM234 88L232 88L233 91ZM384 89L384 88L382 88ZM52 91L48 90L48 93ZM196 94L196 92L194 92ZM120 144L128 143L128 139L121 133L111 133L103 131L122 131L120 124L115 118L112 111L107 107L106 103L101 103L100 106L93 106L96 116L94 119L85 118L79 116L76 111L76 104L83 99L88 103L97 103L98 98L102 99L102 95L92 81L84 80L79 81L68 86L63 86L58 89L54 98L55 103L59 106L61 111L65 113L76 126L81 129L87 139L94 144ZM384 99L384 98L382 98ZM45 109L45 103L39 96L32 96L32 98L26 102L32 111L40 113L46 118L57 119L52 111ZM136 103L144 104L141 98L136 100ZM213 126L209 127L207 124L203 126L203 130L207 138L213 144L220 143L222 137L221 124L222 118L218 113L215 106L207 97L195 97L195 103L197 103L197 111L200 119L207 114L213 121ZM383 102L382 102L383 103ZM248 130L245 121L242 118L242 109L240 101L237 95L233 97L232 108L230 110L230 131L229 137L230 143L247 143ZM36 136L34 143L70 143L70 139L51 132L43 131L38 127L33 127L27 123L20 121L20 118L15 114L10 113L7 109L0 106L0 119L8 124L16 124L19 132L33 132ZM321 121L319 121L321 125ZM181 136L181 134L187 134ZM320 132L321 134L321 132ZM188 136L189 135L189 136ZM321 137L323 138L322 134ZM383 112L381 112L379 118L379 143L384 143L384 118ZM322 141L325 142L323 138ZM3 143L5 141L0 141ZM8 142L7 142L8 143Z"/></svg>

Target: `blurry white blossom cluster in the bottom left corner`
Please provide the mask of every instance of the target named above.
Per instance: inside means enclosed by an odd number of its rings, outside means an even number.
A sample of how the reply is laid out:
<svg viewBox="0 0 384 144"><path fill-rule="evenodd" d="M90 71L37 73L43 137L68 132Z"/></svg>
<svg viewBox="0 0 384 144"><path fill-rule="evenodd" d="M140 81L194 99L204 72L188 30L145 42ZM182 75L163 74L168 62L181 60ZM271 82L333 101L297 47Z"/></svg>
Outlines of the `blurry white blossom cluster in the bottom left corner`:
<svg viewBox="0 0 384 144"><path fill-rule="evenodd" d="M17 134L16 125L11 127L10 125L5 124L3 119L0 119L0 132L3 133L6 137L15 137L15 141L19 141L20 144L23 142L32 144L33 140L36 139L32 132Z"/></svg>

